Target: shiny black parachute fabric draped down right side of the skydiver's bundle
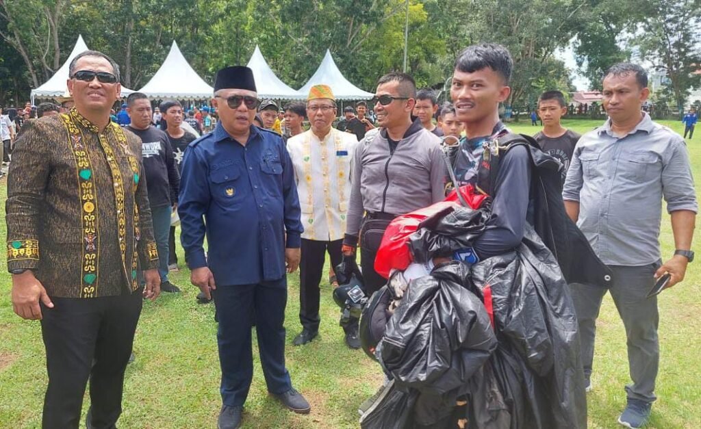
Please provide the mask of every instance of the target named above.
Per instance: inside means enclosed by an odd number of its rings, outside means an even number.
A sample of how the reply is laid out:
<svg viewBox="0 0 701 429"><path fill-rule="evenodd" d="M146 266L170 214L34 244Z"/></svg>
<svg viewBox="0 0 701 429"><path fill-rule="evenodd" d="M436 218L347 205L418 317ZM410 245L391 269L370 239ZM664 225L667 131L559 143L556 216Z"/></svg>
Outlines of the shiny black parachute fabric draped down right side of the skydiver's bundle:
<svg viewBox="0 0 701 429"><path fill-rule="evenodd" d="M550 250L529 227L515 252L472 266L472 282L491 297L499 347L490 362L511 427L585 428L577 318Z"/></svg>

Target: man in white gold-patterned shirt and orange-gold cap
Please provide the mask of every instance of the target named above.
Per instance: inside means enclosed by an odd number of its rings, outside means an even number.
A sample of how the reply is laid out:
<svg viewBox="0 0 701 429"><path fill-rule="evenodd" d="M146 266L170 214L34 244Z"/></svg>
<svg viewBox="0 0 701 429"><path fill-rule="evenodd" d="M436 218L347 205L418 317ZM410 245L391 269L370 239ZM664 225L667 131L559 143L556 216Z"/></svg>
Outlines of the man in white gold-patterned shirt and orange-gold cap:
<svg viewBox="0 0 701 429"><path fill-rule="evenodd" d="M306 111L311 129L287 140L304 224L299 264L302 332L292 341L295 346L306 344L318 335L319 282L326 252L332 266L341 263L341 244L351 196L353 154L358 145L355 135L332 128L336 118L336 99L329 86L311 88ZM343 329L346 344L360 348L358 321Z"/></svg>

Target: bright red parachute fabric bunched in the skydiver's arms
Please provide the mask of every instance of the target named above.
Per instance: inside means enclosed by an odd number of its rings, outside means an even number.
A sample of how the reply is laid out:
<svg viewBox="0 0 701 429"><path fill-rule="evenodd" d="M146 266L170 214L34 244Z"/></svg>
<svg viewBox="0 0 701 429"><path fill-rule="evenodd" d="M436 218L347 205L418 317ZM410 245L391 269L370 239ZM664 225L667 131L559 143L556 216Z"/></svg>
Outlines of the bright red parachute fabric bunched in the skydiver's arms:
<svg viewBox="0 0 701 429"><path fill-rule="evenodd" d="M477 210L486 198L483 193L475 191L471 184L461 186L460 192L473 210ZM380 243L375 257L375 271L384 278L389 278L390 271L393 269L400 271L407 269L407 266L412 262L411 252L407 246L409 236L415 233L418 225L428 217L439 213L445 216L456 207L460 207L460 203L458 194L454 190L440 203L395 217L382 236L382 243Z"/></svg>

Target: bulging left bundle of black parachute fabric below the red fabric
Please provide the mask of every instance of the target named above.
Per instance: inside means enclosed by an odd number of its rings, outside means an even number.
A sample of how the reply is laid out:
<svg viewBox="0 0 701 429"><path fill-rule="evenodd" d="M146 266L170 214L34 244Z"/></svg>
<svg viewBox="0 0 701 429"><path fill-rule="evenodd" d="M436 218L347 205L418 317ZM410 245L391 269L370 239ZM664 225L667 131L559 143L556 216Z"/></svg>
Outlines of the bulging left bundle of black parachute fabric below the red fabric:
<svg viewBox="0 0 701 429"><path fill-rule="evenodd" d="M418 392L413 424L430 425L449 416L496 348L482 301L463 287L470 285L469 275L468 266L451 261L412 280L378 345L381 365L397 388Z"/></svg>

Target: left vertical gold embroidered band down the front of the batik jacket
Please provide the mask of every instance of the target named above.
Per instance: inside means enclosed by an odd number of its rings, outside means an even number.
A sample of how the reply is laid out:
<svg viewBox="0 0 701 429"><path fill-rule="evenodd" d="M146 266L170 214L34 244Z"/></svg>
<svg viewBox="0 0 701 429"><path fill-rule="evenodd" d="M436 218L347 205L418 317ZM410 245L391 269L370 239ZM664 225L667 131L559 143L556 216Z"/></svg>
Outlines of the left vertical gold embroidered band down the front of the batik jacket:
<svg viewBox="0 0 701 429"><path fill-rule="evenodd" d="M93 298L97 292L97 268L100 259L100 238L97 236L97 196L95 195L95 172L90 164L88 149L83 144L83 134L75 121L90 130L97 130L80 116L75 109L62 114L61 120L68 134L68 144L76 160L76 179L81 198L81 224L83 231L83 262L81 269L81 298ZM87 122L87 125L86 125Z"/></svg>

